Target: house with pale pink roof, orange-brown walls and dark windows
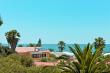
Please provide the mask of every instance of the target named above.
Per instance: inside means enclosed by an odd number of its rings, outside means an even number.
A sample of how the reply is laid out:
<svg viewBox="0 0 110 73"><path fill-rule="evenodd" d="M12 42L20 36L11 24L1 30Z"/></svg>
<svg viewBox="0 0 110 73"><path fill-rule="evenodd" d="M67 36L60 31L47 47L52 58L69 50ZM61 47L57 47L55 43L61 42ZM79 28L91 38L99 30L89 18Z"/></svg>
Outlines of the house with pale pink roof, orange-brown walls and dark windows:
<svg viewBox="0 0 110 73"><path fill-rule="evenodd" d="M34 60L50 56L49 50L40 50L40 47L17 47L15 51L20 55L31 56Z"/></svg>

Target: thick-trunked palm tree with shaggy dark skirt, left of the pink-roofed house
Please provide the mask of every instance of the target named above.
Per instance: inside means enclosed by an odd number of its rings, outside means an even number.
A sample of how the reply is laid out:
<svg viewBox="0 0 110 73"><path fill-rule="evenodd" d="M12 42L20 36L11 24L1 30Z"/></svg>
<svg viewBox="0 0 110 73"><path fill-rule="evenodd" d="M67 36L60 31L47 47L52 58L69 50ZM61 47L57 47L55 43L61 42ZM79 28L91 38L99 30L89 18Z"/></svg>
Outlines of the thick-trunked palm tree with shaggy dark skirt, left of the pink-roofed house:
<svg viewBox="0 0 110 73"><path fill-rule="evenodd" d="M5 33L5 36L9 46L11 47L12 52L15 52L15 48L19 41L20 34L17 32L17 30L11 30Z"/></svg>

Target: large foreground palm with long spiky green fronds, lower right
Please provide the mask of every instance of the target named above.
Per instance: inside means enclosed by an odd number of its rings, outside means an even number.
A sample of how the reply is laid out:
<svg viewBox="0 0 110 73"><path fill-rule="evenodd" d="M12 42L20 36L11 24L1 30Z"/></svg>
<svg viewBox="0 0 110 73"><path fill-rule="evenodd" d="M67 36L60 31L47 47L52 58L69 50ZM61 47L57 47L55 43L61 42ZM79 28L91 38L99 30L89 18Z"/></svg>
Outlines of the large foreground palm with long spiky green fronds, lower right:
<svg viewBox="0 0 110 73"><path fill-rule="evenodd" d="M106 66L103 62L98 62L100 48L92 52L92 45L87 44L83 50L78 44L69 47L77 61L67 61L61 67L64 73L102 73Z"/></svg>

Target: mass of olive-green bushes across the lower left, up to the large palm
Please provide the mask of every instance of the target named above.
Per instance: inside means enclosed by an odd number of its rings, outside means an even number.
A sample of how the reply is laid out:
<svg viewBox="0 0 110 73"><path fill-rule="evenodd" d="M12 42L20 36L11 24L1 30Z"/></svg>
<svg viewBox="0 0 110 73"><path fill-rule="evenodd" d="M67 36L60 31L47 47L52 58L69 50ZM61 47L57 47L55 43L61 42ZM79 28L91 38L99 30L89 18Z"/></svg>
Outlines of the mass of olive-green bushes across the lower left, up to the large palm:
<svg viewBox="0 0 110 73"><path fill-rule="evenodd" d="M56 66L36 67L29 59L32 60L30 57L18 54L0 57L0 73L61 73Z"/></svg>

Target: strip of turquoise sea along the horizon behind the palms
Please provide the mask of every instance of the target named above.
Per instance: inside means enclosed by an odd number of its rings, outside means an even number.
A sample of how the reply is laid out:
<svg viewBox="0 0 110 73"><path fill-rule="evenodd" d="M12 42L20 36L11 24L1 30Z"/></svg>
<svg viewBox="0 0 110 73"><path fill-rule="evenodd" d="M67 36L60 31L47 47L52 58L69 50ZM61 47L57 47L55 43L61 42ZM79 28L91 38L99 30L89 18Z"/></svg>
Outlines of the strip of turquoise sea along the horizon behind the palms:
<svg viewBox="0 0 110 73"><path fill-rule="evenodd" d="M80 47L83 49L85 45L86 44L80 44ZM65 46L64 52L71 52L68 46L73 47L73 44L67 44ZM43 44L41 50L47 50L47 49L53 49L55 52L59 51L57 44ZM110 53L110 44L106 44L103 53Z"/></svg>

